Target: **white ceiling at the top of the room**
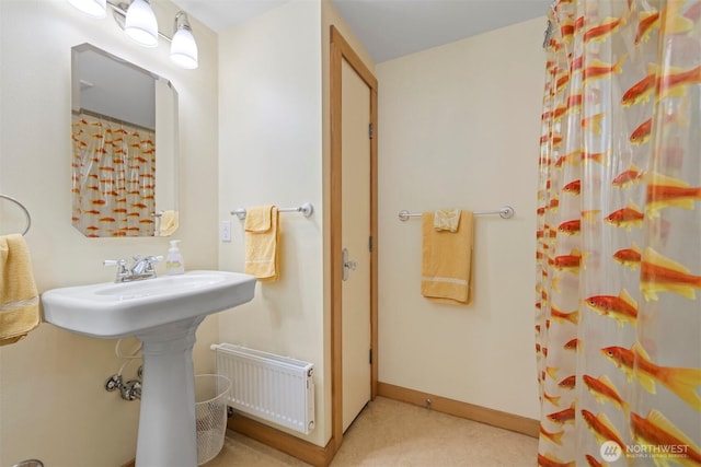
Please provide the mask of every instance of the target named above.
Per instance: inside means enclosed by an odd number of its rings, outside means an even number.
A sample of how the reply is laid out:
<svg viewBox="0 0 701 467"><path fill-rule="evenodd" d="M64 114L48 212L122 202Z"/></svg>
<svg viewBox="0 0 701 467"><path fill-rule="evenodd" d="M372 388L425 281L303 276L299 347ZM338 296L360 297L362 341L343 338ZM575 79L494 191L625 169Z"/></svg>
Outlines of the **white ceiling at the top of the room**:
<svg viewBox="0 0 701 467"><path fill-rule="evenodd" d="M219 33L287 0L174 1ZM544 16L552 3L551 0L331 1L377 63Z"/></svg>

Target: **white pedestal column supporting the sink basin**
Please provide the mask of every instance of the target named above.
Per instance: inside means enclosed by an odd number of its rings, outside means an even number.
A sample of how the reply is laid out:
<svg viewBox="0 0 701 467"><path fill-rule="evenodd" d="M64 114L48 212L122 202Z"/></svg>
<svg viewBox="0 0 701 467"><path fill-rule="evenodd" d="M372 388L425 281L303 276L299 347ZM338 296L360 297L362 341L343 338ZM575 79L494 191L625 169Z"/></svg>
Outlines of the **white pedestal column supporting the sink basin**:
<svg viewBox="0 0 701 467"><path fill-rule="evenodd" d="M143 342L136 467L197 466L193 346L203 319L136 335Z"/></svg>

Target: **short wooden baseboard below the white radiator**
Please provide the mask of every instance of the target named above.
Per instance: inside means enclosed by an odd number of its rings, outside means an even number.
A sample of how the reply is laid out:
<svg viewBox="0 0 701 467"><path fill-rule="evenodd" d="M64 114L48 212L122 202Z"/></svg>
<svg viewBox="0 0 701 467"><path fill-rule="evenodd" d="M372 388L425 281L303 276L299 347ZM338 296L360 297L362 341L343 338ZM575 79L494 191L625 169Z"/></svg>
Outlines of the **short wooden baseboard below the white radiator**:
<svg viewBox="0 0 701 467"><path fill-rule="evenodd" d="M314 467L326 467L335 454L333 439L325 447L321 447L238 412L228 420L227 428Z"/></svg>

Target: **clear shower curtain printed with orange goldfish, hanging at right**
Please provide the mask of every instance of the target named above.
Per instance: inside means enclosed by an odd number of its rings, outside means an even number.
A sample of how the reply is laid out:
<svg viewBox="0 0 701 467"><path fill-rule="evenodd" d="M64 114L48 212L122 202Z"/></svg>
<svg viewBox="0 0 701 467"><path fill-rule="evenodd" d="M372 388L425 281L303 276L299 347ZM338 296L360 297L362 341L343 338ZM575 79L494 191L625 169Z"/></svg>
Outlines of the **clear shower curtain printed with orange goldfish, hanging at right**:
<svg viewBox="0 0 701 467"><path fill-rule="evenodd" d="M540 466L701 466L700 19L699 0L550 12Z"/></svg>

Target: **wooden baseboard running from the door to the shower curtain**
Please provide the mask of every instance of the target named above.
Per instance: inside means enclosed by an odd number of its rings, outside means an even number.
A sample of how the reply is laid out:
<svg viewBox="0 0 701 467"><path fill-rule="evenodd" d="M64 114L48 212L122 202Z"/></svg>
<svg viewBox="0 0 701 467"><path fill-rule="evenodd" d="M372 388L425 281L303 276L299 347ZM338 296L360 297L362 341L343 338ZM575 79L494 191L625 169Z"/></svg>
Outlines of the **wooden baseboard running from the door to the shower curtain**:
<svg viewBox="0 0 701 467"><path fill-rule="evenodd" d="M388 399L394 399L418 407L426 407L426 400L429 399L430 409L438 412L461 417L480 423L490 424L492 427L503 428L505 430L515 431L533 437L538 437L540 432L540 422L527 417L502 412L499 410L489 409L473 404L461 402L459 400L448 399L434 394L422 393L420 390L407 389L405 387L394 386L388 383L378 382L377 386L378 396L387 397Z"/></svg>

